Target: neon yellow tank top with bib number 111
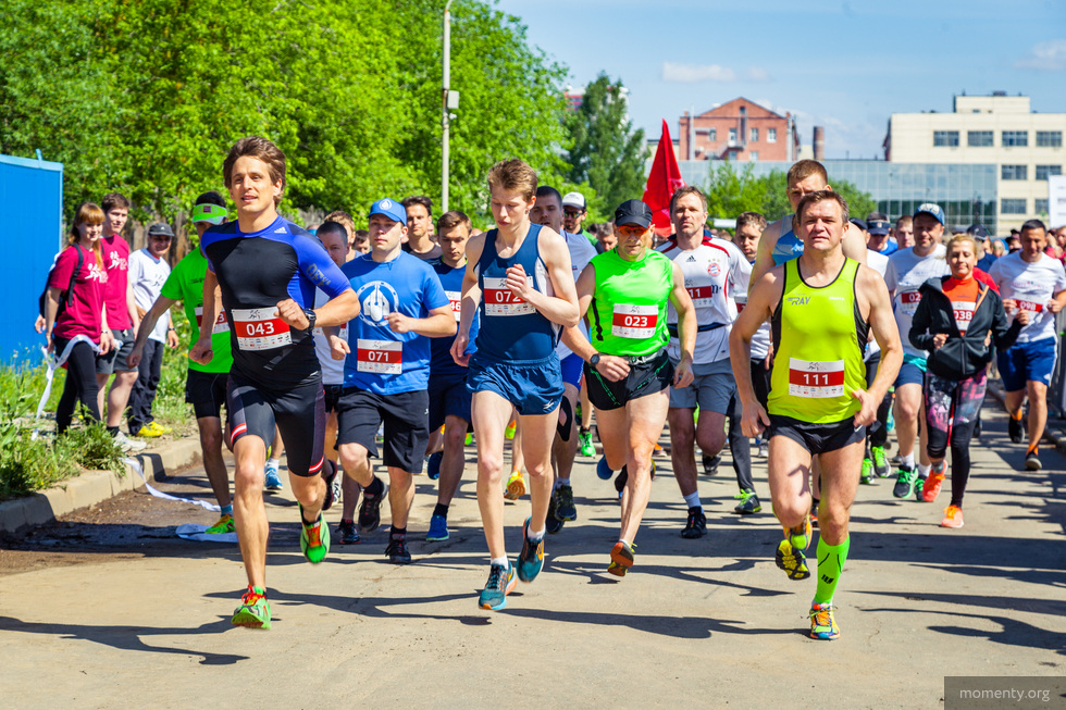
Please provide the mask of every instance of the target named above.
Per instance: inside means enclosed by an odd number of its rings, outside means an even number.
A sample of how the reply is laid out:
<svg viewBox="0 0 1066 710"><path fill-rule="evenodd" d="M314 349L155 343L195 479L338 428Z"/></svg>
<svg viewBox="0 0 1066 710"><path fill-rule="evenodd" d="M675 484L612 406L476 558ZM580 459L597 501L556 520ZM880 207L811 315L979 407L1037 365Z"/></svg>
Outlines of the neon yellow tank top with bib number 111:
<svg viewBox="0 0 1066 710"><path fill-rule="evenodd" d="M800 276L798 259L785 262L784 290L770 321L770 414L834 424L859 410L852 393L866 388L869 323L855 298L857 273L858 262L847 259L833 283L816 288Z"/></svg>

